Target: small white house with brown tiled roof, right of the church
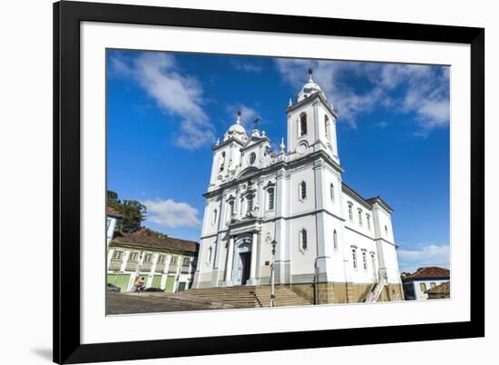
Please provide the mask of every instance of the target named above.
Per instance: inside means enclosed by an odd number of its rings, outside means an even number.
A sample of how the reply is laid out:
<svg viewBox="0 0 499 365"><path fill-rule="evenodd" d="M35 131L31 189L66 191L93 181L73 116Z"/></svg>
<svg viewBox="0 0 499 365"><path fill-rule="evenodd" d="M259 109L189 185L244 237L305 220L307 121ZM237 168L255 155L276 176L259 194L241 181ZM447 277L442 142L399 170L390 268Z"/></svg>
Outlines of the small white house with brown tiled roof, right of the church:
<svg viewBox="0 0 499 365"><path fill-rule="evenodd" d="M450 281L450 271L436 266L421 267L413 273L405 272L402 282L406 301L425 301L428 290L446 281Z"/></svg>

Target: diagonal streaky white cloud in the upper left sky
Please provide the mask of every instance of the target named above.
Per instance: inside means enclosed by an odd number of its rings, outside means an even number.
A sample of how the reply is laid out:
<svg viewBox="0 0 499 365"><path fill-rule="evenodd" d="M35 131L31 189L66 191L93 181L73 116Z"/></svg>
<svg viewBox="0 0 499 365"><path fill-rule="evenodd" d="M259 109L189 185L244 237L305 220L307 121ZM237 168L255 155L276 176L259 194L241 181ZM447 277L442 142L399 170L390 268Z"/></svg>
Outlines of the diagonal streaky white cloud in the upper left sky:
<svg viewBox="0 0 499 365"><path fill-rule="evenodd" d="M114 57L111 62L114 74L131 77L162 111L180 118L175 144L194 150L214 141L214 127L202 109L202 85L181 74L171 54L143 53L131 60Z"/></svg>

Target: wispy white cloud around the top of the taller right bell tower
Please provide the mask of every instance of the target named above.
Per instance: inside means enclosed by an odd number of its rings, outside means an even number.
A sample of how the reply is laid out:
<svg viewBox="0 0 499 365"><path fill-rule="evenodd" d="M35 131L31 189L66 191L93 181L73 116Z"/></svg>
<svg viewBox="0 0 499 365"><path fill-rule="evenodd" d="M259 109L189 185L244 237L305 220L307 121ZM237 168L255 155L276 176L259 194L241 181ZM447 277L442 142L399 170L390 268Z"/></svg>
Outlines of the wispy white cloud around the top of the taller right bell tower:
<svg viewBox="0 0 499 365"><path fill-rule="evenodd" d="M448 67L416 64L382 64L346 61L308 61L277 59L284 81L299 89L306 81L311 65L313 78L338 110L339 118L357 127L360 113L382 107L397 113L416 113L418 132L423 135L449 123ZM347 75L366 80L359 92L345 81Z"/></svg>

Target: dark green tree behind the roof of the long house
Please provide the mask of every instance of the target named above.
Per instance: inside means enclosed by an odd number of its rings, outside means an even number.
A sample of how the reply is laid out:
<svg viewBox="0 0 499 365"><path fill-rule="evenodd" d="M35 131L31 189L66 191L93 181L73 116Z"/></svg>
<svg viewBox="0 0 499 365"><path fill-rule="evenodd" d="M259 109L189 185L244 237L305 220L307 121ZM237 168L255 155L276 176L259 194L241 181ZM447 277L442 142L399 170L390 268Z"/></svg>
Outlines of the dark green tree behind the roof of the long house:
<svg viewBox="0 0 499 365"><path fill-rule="evenodd" d="M141 228L147 210L141 202L135 200L120 201L116 192L107 191L107 205L122 215L119 231L136 232Z"/></svg>

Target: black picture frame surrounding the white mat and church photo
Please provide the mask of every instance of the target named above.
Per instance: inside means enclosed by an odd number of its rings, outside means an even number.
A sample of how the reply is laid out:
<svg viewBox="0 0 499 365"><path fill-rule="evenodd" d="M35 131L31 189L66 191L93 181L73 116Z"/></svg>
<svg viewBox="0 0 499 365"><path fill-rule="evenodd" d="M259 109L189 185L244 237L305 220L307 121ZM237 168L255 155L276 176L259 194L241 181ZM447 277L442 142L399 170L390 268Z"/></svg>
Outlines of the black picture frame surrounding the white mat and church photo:
<svg viewBox="0 0 499 365"><path fill-rule="evenodd" d="M339 35L471 46L471 320L363 329L82 344L80 23ZM304 335L306 333L306 335ZM139 360L484 336L484 29L64 1L54 4L54 361Z"/></svg>

